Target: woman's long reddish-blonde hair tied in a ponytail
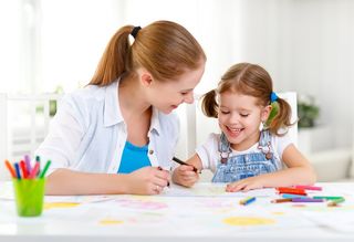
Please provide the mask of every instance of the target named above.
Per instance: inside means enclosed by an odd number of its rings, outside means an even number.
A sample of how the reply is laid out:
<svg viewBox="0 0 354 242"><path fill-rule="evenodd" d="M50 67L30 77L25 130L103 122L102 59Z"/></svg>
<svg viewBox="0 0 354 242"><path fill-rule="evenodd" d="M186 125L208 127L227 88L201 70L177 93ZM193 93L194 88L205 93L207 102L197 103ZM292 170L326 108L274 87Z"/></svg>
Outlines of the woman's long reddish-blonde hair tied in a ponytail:
<svg viewBox="0 0 354 242"><path fill-rule="evenodd" d="M178 23L153 22L138 30L131 44L133 29L125 25L113 35L90 84L110 85L122 74L134 75L138 67L146 69L158 81L174 80L206 61L197 40Z"/></svg>

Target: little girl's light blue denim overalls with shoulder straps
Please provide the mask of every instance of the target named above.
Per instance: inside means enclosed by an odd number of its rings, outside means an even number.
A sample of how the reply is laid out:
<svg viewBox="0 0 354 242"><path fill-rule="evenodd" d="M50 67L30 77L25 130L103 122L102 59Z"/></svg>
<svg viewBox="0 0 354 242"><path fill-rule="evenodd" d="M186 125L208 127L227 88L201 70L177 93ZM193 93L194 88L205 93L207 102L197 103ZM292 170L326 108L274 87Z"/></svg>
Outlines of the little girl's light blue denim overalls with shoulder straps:
<svg viewBox="0 0 354 242"><path fill-rule="evenodd" d="M221 134L219 145L220 160L212 177L212 182L233 182L248 177L274 172L280 164L271 145L271 134L262 130L258 151L230 156L231 148L226 136Z"/></svg>

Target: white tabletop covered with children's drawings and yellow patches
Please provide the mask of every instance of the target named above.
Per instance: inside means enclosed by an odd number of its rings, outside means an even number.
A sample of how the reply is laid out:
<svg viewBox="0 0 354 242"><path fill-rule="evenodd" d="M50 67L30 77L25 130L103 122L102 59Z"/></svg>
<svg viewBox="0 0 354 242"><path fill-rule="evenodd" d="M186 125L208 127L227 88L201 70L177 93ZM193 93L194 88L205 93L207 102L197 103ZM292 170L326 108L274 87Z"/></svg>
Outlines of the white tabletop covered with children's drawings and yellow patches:
<svg viewBox="0 0 354 242"><path fill-rule="evenodd" d="M354 183L317 183L326 203L271 203L274 189L226 193L223 187L173 186L162 196L45 197L38 218L19 218L11 183L0 183L0 241L354 241ZM239 200L257 197L240 206ZM243 225L242 225L243 224Z"/></svg>

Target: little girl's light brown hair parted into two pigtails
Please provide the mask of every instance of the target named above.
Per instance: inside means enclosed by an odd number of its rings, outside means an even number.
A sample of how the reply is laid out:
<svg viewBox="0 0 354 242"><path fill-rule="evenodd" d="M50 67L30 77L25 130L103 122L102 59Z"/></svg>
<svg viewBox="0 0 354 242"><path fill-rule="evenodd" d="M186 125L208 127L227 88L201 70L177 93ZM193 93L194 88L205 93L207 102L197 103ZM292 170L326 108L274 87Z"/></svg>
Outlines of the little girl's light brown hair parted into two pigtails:
<svg viewBox="0 0 354 242"><path fill-rule="evenodd" d="M250 63L239 63L232 65L221 77L216 90L211 90L202 96L201 108L206 116L218 117L217 94L225 92L236 92L258 98L258 105L270 105L270 96L273 92L273 83L269 73L261 66ZM270 122L268 128L278 136L280 128L285 130L291 125L291 107L287 101L278 97L279 104L277 115Z"/></svg>

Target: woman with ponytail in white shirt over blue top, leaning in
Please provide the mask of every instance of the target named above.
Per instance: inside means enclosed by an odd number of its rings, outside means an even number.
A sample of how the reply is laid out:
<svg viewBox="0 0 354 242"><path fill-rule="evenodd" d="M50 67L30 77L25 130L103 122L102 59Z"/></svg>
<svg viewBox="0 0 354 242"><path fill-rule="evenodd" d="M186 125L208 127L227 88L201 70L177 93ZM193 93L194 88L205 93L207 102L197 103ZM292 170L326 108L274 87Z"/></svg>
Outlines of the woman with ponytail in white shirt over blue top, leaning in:
<svg viewBox="0 0 354 242"><path fill-rule="evenodd" d="M46 193L159 193L179 135L171 112L194 102L205 62L175 22L121 28L88 85L62 98L37 150L52 160Z"/></svg>

